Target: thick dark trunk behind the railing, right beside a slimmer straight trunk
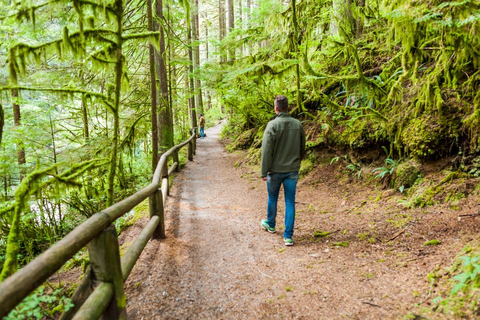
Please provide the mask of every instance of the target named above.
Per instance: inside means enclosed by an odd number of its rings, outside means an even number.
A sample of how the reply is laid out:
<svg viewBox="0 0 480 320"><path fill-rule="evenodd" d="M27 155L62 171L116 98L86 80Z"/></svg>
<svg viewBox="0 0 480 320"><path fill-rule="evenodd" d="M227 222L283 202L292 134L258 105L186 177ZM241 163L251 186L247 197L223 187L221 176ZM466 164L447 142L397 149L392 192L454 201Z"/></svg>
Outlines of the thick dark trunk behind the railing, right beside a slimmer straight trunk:
<svg viewBox="0 0 480 320"><path fill-rule="evenodd" d="M156 15L160 20L163 19L162 0L156 0ZM166 67L163 55L165 53L165 37L163 27L156 21L153 22L153 28L160 31L160 52L155 52L156 75L159 80L158 94L158 149L164 152L173 146L173 126L168 104L168 79L166 77Z"/></svg>

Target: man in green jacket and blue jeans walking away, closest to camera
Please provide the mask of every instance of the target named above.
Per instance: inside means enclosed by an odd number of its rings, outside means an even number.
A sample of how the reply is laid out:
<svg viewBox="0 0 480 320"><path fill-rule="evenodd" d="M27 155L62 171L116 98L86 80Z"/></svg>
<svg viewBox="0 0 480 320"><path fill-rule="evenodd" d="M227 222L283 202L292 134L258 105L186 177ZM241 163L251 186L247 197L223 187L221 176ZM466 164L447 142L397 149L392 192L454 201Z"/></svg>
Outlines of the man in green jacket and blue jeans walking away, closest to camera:
<svg viewBox="0 0 480 320"><path fill-rule="evenodd" d="M293 224L295 222L295 192L300 161L305 153L305 132L299 120L288 114L288 99L278 95L274 101L275 115L266 125L261 143L260 174L266 181L268 203L266 220L261 226L268 232L275 232L276 204L278 192L283 183L285 191L285 245L293 245Z"/></svg>

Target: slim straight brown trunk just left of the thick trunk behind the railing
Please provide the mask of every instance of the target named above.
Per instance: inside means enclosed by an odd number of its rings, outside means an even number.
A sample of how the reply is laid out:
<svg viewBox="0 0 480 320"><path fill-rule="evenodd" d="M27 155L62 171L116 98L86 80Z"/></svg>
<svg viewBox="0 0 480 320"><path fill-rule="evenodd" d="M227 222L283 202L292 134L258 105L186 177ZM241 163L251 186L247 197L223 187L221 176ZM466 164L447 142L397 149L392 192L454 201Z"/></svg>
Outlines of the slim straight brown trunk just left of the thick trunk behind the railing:
<svg viewBox="0 0 480 320"><path fill-rule="evenodd" d="M148 30L153 31L153 13L151 0L146 0L146 18ZM156 76L155 76L155 50L153 44L148 45L148 63L150 71L150 106L151 106L151 172L155 172L158 164L158 123L156 115Z"/></svg>

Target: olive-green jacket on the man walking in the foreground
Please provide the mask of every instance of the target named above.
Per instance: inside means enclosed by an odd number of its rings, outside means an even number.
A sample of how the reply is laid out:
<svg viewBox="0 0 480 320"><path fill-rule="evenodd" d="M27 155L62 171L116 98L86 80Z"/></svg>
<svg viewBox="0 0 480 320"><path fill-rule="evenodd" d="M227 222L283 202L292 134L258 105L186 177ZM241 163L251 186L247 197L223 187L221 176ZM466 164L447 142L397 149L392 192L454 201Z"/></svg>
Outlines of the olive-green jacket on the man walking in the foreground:
<svg viewBox="0 0 480 320"><path fill-rule="evenodd" d="M288 112L275 114L267 123L261 143L260 174L294 172L305 153L303 127Z"/></svg>

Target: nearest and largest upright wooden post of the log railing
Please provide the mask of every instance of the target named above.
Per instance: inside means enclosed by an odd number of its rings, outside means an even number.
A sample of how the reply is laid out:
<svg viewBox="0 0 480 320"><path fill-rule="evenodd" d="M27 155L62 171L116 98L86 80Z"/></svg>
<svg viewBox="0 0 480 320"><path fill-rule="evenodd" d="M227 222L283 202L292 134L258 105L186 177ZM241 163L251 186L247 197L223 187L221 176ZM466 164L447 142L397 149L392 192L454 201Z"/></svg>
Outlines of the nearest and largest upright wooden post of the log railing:
<svg viewBox="0 0 480 320"><path fill-rule="evenodd" d="M105 319L126 319L126 297L123 291L118 237L113 224L88 243L93 283L109 282L114 295L103 312Z"/></svg>

